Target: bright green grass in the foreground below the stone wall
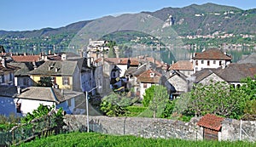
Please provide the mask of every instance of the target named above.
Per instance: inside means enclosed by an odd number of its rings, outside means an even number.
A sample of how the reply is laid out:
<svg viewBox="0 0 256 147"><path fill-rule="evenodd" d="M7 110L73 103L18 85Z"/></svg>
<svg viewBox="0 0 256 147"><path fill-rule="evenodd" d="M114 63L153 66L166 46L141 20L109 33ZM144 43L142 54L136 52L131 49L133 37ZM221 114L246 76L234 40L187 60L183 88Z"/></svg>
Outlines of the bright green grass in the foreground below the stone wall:
<svg viewBox="0 0 256 147"><path fill-rule="evenodd" d="M113 136L101 133L67 133L50 136L44 139L35 139L29 143L20 144L20 146L47 146L47 147L69 147L69 146L91 146L91 147L108 147L108 146L182 146L182 147L198 147L198 146L237 146L237 147L253 147L256 143L250 142L218 142L218 141L187 141L181 139L143 139L135 136Z"/></svg>

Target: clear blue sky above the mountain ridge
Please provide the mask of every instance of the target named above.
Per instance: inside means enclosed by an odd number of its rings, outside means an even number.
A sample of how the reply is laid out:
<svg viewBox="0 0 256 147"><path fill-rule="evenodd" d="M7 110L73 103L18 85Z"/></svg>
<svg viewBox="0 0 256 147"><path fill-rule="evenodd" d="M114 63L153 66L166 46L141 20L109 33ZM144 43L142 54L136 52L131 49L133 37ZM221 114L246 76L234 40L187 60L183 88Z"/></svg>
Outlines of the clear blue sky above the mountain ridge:
<svg viewBox="0 0 256 147"><path fill-rule="evenodd" d="M109 14L182 8L190 4L217 3L241 9L256 8L255 0L0 0L0 30L26 31L57 28Z"/></svg>

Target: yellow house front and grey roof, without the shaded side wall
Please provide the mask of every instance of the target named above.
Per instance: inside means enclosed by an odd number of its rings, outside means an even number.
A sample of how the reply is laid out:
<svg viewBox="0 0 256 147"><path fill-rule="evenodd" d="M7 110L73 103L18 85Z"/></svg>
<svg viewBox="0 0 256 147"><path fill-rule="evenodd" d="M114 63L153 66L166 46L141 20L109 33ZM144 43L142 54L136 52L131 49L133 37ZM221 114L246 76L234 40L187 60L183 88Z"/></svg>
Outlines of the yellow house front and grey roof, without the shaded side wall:
<svg viewBox="0 0 256 147"><path fill-rule="evenodd" d="M46 61L29 75L34 85L54 86L55 88L81 90L81 67L84 59ZM80 68L79 68L80 66Z"/></svg>

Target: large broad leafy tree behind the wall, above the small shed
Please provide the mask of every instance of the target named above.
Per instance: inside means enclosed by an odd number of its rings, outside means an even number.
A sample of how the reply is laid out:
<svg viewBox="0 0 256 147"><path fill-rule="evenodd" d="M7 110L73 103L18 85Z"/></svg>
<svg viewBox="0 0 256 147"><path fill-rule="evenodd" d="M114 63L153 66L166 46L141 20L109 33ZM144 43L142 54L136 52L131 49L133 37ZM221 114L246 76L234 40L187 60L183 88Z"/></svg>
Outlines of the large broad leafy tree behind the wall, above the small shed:
<svg viewBox="0 0 256 147"><path fill-rule="evenodd" d="M195 116L212 113L218 116L240 118L248 96L241 88L230 87L225 82L197 84L190 92L189 110Z"/></svg>

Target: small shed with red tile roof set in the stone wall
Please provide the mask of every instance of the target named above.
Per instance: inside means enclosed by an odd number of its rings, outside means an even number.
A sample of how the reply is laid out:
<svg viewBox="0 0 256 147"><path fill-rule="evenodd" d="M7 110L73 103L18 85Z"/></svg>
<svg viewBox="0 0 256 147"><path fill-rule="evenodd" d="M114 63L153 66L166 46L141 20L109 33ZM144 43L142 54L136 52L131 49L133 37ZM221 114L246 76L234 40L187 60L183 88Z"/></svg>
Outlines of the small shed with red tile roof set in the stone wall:
<svg viewBox="0 0 256 147"><path fill-rule="evenodd" d="M221 132L223 117L207 114L201 117L197 125L203 127L203 139L218 140L218 133Z"/></svg>

